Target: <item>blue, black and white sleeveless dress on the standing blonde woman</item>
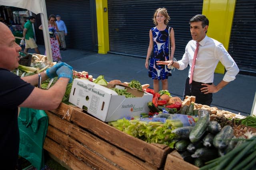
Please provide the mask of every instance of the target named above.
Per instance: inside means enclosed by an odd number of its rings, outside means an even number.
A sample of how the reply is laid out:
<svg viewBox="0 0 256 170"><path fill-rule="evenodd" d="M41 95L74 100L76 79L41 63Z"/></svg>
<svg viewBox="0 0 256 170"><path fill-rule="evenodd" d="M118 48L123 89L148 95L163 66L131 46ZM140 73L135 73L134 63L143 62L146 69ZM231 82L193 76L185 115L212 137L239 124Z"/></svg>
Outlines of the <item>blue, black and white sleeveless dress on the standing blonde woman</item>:
<svg viewBox="0 0 256 170"><path fill-rule="evenodd" d="M171 69L167 68L167 65L156 64L156 61L169 60L168 29L169 26L163 31L159 31L156 27L151 28L154 45L148 67L148 76L153 80L164 80L168 79L168 76L172 76Z"/></svg>

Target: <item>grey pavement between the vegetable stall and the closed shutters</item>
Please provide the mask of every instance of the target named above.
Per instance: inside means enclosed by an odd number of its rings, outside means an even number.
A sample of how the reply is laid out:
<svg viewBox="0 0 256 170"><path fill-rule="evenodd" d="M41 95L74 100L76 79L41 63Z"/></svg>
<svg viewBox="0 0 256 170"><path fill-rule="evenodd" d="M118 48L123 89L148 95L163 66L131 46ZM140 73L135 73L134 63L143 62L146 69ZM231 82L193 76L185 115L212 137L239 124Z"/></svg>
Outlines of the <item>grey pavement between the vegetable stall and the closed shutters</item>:
<svg viewBox="0 0 256 170"><path fill-rule="evenodd" d="M44 45L38 45L38 48L44 55ZM28 53L35 53L35 51L30 49ZM150 88L153 88L153 80L148 77L148 70L144 66L145 58L98 54L76 49L67 49L60 51L60 53L63 62L70 64L76 71L87 71L94 78L104 75L108 82L116 79L121 80L121 82L130 82L135 79L141 84L150 84ZM213 83L218 84L223 76L224 74L215 73ZM172 76L168 78L168 90L172 96L178 96L182 99L187 77L188 68L185 70L175 69L172 72ZM255 94L256 76L238 74L234 81L213 94L211 106L236 114L250 115Z"/></svg>

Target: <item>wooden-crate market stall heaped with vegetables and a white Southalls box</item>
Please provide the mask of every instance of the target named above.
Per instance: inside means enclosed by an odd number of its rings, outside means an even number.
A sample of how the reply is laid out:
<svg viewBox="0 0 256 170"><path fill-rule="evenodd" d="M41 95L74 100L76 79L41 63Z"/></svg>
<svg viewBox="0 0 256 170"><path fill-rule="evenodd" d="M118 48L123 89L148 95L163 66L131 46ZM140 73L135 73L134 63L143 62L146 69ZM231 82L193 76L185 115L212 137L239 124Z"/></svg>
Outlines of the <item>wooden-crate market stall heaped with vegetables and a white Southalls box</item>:
<svg viewBox="0 0 256 170"><path fill-rule="evenodd" d="M45 56L37 57L42 61ZM35 72L43 69L42 63ZM155 93L138 80L106 82L103 75L95 79L86 71L73 71L73 78L60 106L46 111L44 149L62 166L197 170L220 168L218 164L240 167L249 161L247 169L255 168L256 152L246 147L256 147L254 116L197 104L194 96L182 101L167 90ZM46 80L41 88L54 82ZM238 151L248 159L234 154Z"/></svg>

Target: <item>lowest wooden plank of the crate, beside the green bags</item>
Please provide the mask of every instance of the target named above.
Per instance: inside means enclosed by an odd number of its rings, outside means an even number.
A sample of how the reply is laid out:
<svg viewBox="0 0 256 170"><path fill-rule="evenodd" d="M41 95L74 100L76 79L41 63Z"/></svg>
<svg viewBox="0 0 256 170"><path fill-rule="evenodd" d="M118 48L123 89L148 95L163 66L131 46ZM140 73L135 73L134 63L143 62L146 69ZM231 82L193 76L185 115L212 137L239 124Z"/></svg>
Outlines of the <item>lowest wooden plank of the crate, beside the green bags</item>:
<svg viewBox="0 0 256 170"><path fill-rule="evenodd" d="M59 162L64 167L69 167L73 170L91 170L92 166L88 166L73 154L68 152L62 145L54 142L52 139L46 137L44 141L44 149L47 150L50 155L54 156L54 160L58 159ZM52 156L51 156L52 157Z"/></svg>

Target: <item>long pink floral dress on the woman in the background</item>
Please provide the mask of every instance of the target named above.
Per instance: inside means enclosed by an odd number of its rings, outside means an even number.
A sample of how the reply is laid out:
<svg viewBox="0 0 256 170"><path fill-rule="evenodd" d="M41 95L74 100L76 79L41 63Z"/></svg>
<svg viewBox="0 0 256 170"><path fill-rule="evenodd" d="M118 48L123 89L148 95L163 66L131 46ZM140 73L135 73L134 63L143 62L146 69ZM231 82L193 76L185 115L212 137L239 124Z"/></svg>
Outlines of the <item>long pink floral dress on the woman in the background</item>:
<svg viewBox="0 0 256 170"><path fill-rule="evenodd" d="M52 27L51 24L48 24L48 28L53 28L55 30L55 34L57 33L55 25L54 25L54 27ZM50 37L50 43L51 43L51 47L52 47L52 60L53 61L62 60L62 58L60 56L60 47L59 47L58 40L56 39L56 36ZM46 55L46 51L45 51L44 55Z"/></svg>

